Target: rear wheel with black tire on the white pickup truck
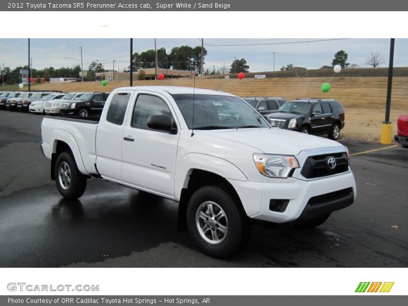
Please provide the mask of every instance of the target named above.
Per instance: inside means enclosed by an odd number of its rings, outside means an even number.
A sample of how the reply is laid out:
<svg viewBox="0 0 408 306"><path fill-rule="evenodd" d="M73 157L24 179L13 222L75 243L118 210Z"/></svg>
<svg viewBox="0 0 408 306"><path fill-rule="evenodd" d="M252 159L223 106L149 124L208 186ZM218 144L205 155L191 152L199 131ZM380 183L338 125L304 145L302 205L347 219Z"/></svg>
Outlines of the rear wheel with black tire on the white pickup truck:
<svg viewBox="0 0 408 306"><path fill-rule="evenodd" d="M62 172L60 173L61 168ZM58 156L54 173L58 191L64 198L69 200L78 199L84 194L87 179L86 176L78 170L71 152L65 151ZM70 179L69 182L67 180L68 175Z"/></svg>

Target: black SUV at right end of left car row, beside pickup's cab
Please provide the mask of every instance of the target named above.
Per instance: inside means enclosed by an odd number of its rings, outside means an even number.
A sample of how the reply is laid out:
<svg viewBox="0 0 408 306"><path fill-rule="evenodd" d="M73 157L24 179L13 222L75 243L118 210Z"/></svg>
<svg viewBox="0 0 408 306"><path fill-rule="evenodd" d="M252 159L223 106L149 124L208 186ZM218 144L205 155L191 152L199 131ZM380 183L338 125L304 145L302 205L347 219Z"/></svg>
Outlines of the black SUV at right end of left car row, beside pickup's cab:
<svg viewBox="0 0 408 306"><path fill-rule="evenodd" d="M60 113L62 116L74 115L81 117L100 115L108 96L109 93L106 92L85 93L79 98L62 103Z"/></svg>

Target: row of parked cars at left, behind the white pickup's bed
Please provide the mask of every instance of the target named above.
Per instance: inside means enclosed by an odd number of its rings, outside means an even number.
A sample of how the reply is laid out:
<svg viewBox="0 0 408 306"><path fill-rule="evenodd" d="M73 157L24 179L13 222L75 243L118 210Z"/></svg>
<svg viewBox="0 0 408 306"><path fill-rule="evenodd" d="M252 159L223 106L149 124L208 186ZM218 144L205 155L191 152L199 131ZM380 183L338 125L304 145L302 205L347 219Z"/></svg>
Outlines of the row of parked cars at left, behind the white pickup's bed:
<svg viewBox="0 0 408 306"><path fill-rule="evenodd" d="M106 92L0 92L0 109L87 117L100 115L108 96Z"/></svg>

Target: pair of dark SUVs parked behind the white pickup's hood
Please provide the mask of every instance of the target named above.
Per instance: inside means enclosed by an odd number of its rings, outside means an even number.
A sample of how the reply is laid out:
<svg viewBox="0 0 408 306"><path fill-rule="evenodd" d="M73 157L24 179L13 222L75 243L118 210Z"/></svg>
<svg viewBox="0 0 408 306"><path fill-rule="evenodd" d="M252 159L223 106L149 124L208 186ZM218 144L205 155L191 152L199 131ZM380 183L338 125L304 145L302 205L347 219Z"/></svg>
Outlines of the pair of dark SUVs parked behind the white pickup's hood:
<svg viewBox="0 0 408 306"><path fill-rule="evenodd" d="M334 99L298 98L286 101L280 97L245 97L254 109L273 127L305 134L327 134L337 140L345 123L344 109Z"/></svg>

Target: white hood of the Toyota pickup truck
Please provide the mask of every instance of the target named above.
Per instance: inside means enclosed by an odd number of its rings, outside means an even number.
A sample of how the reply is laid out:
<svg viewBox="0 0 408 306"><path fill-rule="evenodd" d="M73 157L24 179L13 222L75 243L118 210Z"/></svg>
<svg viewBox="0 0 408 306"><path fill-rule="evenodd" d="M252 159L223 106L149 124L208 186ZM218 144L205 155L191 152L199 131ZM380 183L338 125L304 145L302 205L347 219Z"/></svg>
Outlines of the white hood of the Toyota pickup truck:
<svg viewBox="0 0 408 306"><path fill-rule="evenodd" d="M275 128L194 131L194 133L248 145L258 152L267 154L298 155L302 150L343 146L322 137Z"/></svg>

